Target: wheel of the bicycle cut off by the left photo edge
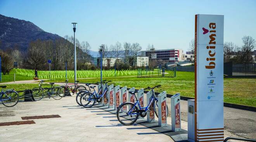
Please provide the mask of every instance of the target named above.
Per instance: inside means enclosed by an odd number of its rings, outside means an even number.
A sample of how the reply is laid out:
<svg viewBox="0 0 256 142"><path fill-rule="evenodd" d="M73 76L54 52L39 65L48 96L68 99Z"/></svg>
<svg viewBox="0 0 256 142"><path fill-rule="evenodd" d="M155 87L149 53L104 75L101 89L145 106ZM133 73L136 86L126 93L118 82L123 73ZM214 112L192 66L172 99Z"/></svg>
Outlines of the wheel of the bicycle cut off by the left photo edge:
<svg viewBox="0 0 256 142"><path fill-rule="evenodd" d="M12 107L19 102L19 94L14 90L7 90L2 94L1 100L3 100L3 105L7 107Z"/></svg>

